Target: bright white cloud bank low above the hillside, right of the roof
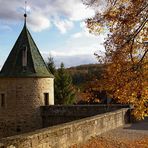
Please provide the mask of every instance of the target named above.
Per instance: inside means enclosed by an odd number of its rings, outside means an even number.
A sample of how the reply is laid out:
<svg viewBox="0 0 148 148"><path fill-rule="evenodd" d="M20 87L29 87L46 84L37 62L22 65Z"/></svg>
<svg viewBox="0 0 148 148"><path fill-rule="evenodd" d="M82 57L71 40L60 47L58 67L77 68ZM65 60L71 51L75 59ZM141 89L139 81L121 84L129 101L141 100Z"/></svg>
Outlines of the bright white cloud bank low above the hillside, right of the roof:
<svg viewBox="0 0 148 148"><path fill-rule="evenodd" d="M74 34L62 47L49 50L50 52L42 52L45 59L51 55L54 57L57 67L61 62L64 62L66 67L97 63L97 59L94 56L98 50L104 50L103 45L104 36L99 39L96 36L87 36L85 31Z"/></svg>

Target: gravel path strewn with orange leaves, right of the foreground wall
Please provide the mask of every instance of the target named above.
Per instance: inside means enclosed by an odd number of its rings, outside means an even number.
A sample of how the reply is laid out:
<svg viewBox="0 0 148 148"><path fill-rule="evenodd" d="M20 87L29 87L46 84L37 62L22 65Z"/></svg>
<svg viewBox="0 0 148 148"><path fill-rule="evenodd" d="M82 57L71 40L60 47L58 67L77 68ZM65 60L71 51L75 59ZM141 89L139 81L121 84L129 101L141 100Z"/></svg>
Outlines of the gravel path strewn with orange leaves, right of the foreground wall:
<svg viewBox="0 0 148 148"><path fill-rule="evenodd" d="M71 148L148 148L148 118L92 137Z"/></svg>

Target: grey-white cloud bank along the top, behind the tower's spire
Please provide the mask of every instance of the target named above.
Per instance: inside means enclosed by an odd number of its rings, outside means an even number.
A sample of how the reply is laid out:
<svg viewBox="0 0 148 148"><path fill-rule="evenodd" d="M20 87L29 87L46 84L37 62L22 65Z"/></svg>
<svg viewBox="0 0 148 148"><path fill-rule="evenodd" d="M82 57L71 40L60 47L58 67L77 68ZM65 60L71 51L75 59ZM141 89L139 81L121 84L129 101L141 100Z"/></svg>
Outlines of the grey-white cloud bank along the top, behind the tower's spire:
<svg viewBox="0 0 148 148"><path fill-rule="evenodd" d="M65 33L73 27L72 21L81 21L94 15L94 10L83 5L81 0L36 0L28 1L27 5L28 24L33 31L47 29L52 22ZM22 13L24 1L0 0L0 20L5 24L22 20Z"/></svg>

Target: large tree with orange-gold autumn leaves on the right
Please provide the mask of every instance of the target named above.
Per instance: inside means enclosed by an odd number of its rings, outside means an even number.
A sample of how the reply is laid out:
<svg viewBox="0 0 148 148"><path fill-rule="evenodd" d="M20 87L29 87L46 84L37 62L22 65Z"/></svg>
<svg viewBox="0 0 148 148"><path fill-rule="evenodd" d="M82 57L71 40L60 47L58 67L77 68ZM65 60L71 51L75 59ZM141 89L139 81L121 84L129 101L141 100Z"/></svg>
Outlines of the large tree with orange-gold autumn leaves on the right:
<svg viewBox="0 0 148 148"><path fill-rule="evenodd" d="M98 8L100 0L84 0ZM104 43L105 87L120 103L133 105L137 119L148 116L148 1L106 0L102 12L87 20L91 33L109 32Z"/></svg>

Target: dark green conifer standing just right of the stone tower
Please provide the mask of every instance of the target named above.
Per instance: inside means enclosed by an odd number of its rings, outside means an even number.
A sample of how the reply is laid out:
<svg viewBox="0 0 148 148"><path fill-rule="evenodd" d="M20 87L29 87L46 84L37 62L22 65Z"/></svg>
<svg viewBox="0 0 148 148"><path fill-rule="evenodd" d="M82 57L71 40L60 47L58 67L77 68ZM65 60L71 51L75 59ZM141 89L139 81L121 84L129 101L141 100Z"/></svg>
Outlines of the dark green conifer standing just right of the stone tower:
<svg viewBox="0 0 148 148"><path fill-rule="evenodd" d="M63 63L61 63L55 75L55 103L65 105L75 103L75 90L72 79L66 72Z"/></svg>

